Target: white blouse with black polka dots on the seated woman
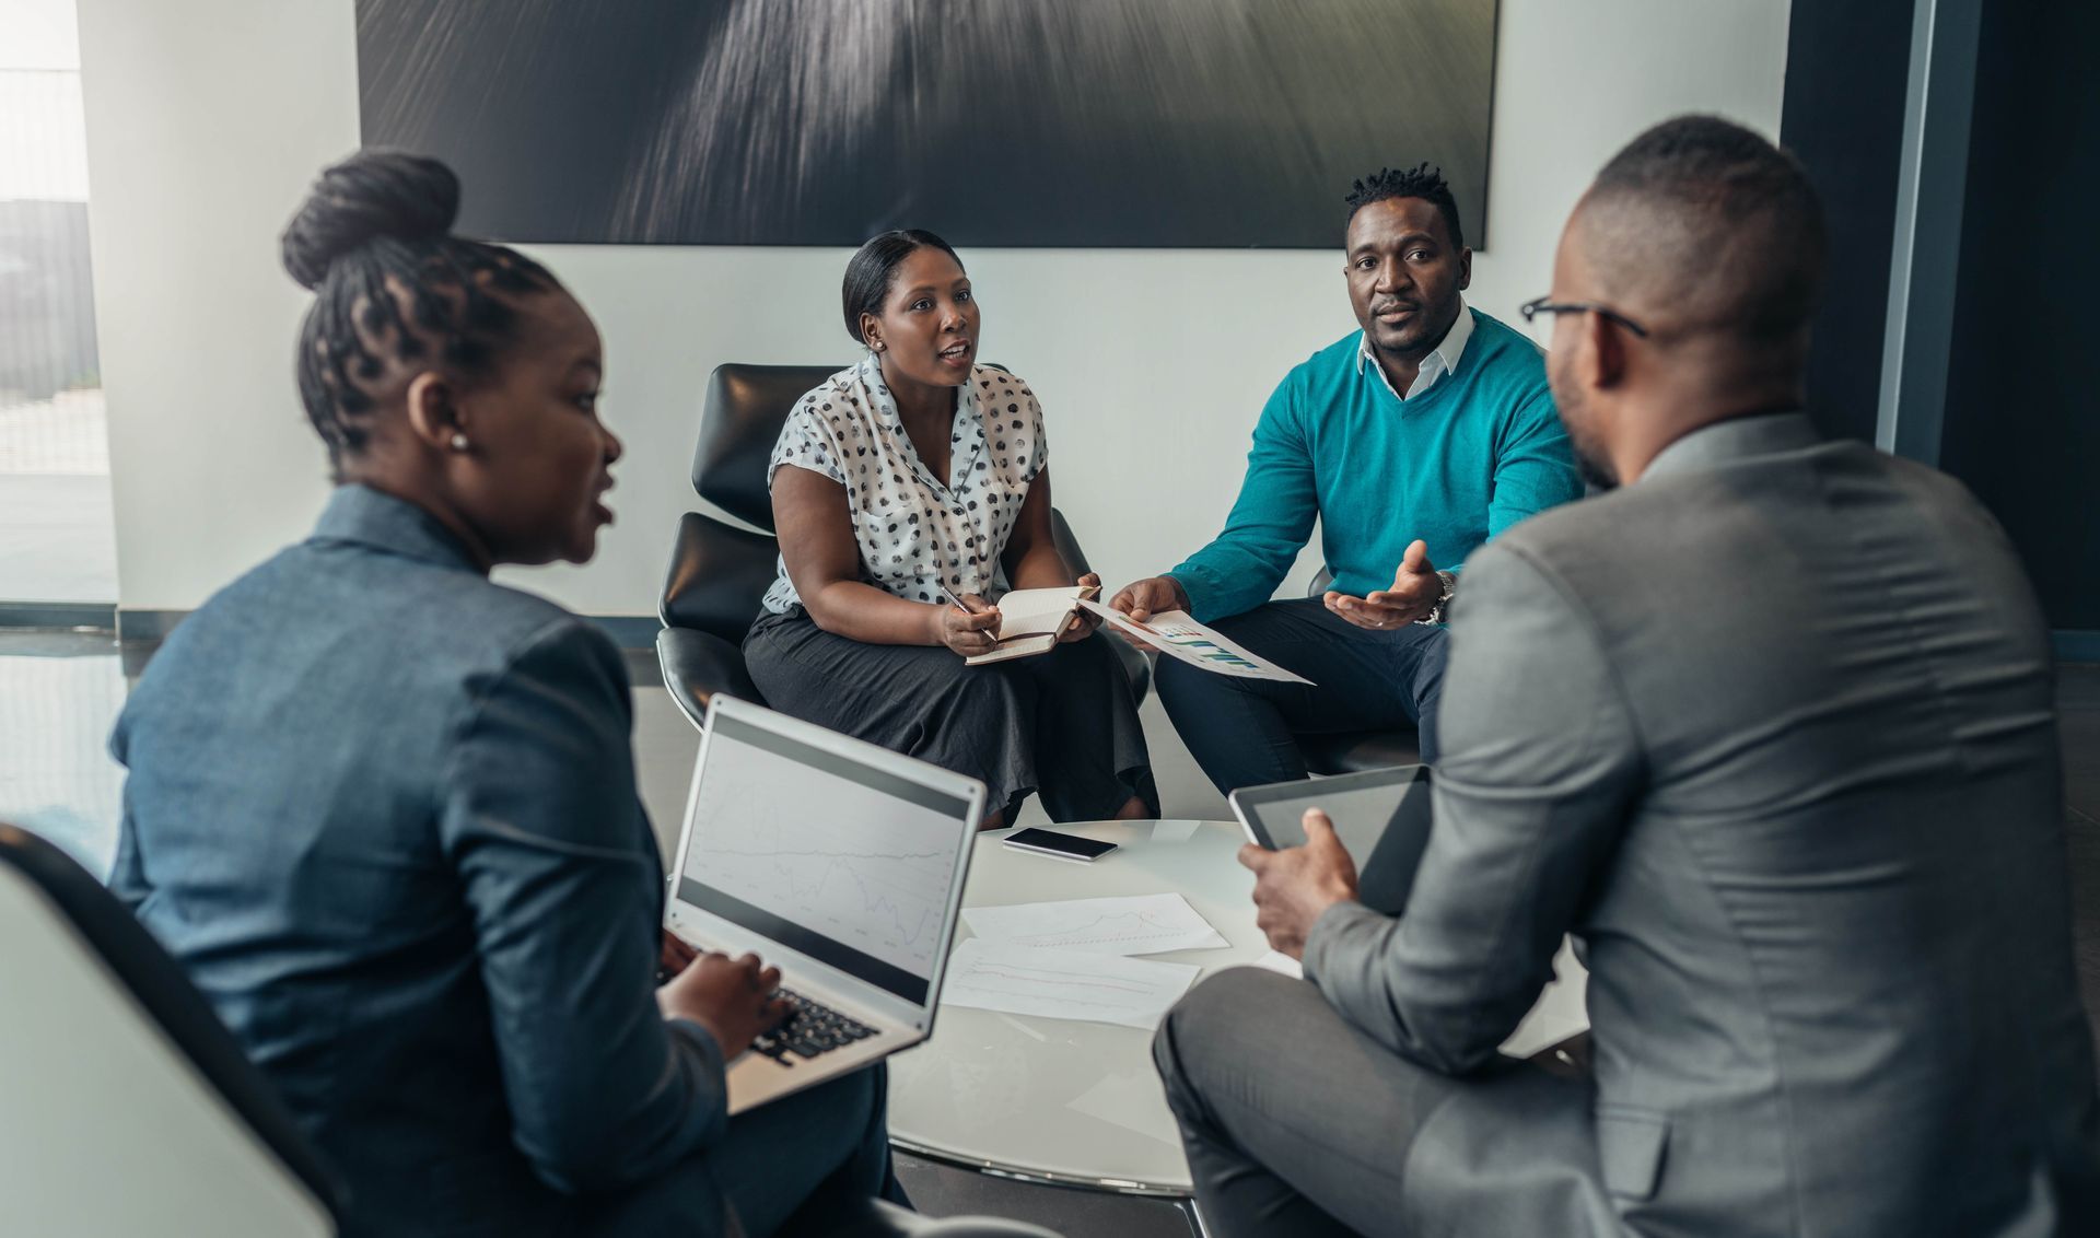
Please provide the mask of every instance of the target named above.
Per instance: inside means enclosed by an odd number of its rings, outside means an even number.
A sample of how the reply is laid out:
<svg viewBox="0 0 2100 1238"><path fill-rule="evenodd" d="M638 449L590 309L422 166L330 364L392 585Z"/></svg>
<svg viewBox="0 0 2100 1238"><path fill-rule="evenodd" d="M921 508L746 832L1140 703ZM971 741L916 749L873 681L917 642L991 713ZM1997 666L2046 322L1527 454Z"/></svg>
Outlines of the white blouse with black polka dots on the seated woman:
<svg viewBox="0 0 2100 1238"><path fill-rule="evenodd" d="M1044 470L1048 443L1035 392L1012 373L979 365L956 397L949 476L920 460L897 401L869 355L804 394L766 468L806 468L846 487L861 579L911 602L939 602L941 585L995 598L1006 573L1000 554ZM800 598L788 560L764 606L783 615Z"/></svg>

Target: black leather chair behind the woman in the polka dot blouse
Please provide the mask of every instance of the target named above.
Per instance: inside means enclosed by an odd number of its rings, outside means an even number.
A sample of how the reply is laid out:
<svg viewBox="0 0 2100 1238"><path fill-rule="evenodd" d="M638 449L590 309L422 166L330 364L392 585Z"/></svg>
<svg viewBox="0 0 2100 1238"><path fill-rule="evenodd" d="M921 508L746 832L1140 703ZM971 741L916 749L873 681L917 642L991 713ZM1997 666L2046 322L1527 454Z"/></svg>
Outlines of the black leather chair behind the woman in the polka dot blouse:
<svg viewBox="0 0 2100 1238"><path fill-rule="evenodd" d="M704 512L678 520L657 606L664 619L657 661L664 686L695 726L716 692L764 703L743 669L743 634L758 619L758 602L777 571L766 462L794 403L836 371L834 365L720 365L708 378L693 447L693 493L750 529ZM1090 571L1065 514L1052 512L1050 520L1065 562ZM1121 640L1111 644L1142 701L1151 665Z"/></svg>

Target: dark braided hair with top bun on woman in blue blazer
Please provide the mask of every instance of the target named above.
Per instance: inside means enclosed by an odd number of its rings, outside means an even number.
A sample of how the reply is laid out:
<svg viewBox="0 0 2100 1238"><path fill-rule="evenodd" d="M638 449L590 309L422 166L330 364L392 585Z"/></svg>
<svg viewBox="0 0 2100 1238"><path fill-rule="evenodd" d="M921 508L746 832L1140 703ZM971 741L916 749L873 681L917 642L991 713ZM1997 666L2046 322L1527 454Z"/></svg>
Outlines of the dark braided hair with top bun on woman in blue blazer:
<svg viewBox="0 0 2100 1238"><path fill-rule="evenodd" d="M370 439L388 359L485 371L517 329L512 300L561 287L514 250L452 235L458 214L452 168L372 149L321 172L284 231L284 269L315 294L298 394L338 481Z"/></svg>

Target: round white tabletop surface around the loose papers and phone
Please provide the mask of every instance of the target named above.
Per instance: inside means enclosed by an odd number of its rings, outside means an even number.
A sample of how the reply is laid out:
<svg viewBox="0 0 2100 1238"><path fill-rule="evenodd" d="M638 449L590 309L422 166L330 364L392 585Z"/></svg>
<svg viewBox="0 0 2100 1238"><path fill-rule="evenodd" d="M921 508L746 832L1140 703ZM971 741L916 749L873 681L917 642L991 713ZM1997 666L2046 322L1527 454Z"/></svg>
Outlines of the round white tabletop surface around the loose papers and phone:
<svg viewBox="0 0 2100 1238"><path fill-rule="evenodd" d="M1077 865L976 837L964 906L1176 892L1231 948L1144 955L1203 974L1268 953L1254 873L1224 820L1058 825L1117 850ZM956 940L970 936L958 925ZM1197 978L1201 982L1201 976ZM1140 1028L943 1005L932 1037L890 1058L890 1141L916 1156L1031 1181L1189 1196L1189 1162Z"/></svg>

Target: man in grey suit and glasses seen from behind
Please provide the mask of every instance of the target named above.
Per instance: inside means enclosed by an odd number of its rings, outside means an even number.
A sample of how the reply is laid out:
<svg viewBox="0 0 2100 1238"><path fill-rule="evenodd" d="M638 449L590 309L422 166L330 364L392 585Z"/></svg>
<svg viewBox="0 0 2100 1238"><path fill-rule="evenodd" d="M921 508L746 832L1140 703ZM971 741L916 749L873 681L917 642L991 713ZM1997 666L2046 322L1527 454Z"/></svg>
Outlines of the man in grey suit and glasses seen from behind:
<svg viewBox="0 0 2100 1238"><path fill-rule="evenodd" d="M1399 917L1319 814L1243 856L1308 982L1159 1030L1212 1234L2100 1234L2041 615L1957 483L1798 411L1823 243L1709 118L1577 206L1527 315L1623 489L1468 562ZM1495 1053L1562 934L1590 1076Z"/></svg>

